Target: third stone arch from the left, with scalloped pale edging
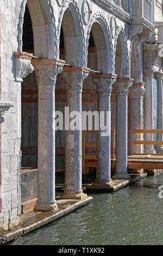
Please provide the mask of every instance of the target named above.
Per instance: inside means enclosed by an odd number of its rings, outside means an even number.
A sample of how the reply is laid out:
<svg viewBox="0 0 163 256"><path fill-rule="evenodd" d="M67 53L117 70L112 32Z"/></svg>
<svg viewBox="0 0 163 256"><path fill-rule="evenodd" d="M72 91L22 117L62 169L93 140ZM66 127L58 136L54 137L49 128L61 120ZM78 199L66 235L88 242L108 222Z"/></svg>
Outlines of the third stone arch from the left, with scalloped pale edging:
<svg viewBox="0 0 163 256"><path fill-rule="evenodd" d="M93 15L92 20L87 31L85 56L87 64L87 47L89 46L90 32L92 29L93 38L95 40L97 51L97 66L98 71L103 73L114 72L114 58L113 58L113 45L111 41L110 29L105 16L102 13ZM105 64L104 64L105 63Z"/></svg>

